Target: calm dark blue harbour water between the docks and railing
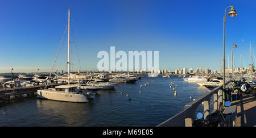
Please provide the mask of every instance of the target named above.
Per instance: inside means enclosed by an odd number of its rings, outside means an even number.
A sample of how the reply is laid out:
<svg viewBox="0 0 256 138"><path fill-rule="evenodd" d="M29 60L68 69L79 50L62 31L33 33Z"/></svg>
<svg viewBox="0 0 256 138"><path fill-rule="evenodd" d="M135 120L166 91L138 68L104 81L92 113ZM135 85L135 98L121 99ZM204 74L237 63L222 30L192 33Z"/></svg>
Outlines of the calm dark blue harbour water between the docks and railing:
<svg viewBox="0 0 256 138"><path fill-rule="evenodd" d="M169 86L173 81L173 86L177 85L176 96ZM147 82L150 85L144 86ZM100 90L88 103L30 98L2 105L0 126L156 126L207 91L177 76L143 76L136 83L120 84L114 90ZM203 110L203 106L198 110Z"/></svg>

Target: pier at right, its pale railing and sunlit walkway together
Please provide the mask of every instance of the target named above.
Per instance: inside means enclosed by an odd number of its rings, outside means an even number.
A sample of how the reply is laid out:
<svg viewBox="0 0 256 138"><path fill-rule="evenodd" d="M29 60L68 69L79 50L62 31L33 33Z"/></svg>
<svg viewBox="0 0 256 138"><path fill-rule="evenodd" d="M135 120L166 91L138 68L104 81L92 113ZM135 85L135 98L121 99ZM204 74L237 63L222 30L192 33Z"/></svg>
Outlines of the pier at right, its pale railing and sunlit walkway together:
<svg viewBox="0 0 256 138"><path fill-rule="evenodd" d="M233 82L228 81L225 83L227 87L233 87ZM256 85L251 85L254 87ZM160 123L157 127L175 127L178 124L185 122L186 127L192 127L193 120L196 119L195 112L197 107L204 102L204 118L210 114L210 112L214 112L216 110L220 110L220 106L222 99L225 98L222 95L222 87L223 85L216 87L215 89L205 93L201 97L197 98L195 101L192 101L184 106L184 110L172 116L170 119ZM213 96L213 101L210 101L210 98ZM211 103L210 103L211 102ZM241 126L255 126L256 119L254 117L254 113L256 111L255 108L255 97L251 97L250 95L242 95L240 100L233 101L232 105L237 106L236 114L233 114L233 121L235 127ZM212 111L210 110L210 106L213 106Z"/></svg>

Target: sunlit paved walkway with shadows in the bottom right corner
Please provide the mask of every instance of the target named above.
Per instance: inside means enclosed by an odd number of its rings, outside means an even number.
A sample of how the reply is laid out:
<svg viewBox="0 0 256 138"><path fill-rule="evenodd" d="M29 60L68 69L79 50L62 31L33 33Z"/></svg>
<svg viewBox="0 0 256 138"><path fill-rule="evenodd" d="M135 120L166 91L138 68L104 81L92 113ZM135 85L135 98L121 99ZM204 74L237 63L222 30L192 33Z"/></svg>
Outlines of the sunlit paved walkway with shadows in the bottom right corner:
<svg viewBox="0 0 256 138"><path fill-rule="evenodd" d="M232 105L237 105L236 127L256 127L256 101L251 95L242 95Z"/></svg>

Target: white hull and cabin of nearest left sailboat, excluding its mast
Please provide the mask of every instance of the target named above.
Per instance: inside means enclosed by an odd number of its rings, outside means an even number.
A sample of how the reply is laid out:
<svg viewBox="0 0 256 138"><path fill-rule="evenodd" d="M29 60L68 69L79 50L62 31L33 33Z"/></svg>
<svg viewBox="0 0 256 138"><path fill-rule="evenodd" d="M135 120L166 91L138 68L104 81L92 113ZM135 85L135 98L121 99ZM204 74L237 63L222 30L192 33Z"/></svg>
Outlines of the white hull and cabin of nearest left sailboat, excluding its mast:
<svg viewBox="0 0 256 138"><path fill-rule="evenodd" d="M88 99L77 88L77 85L60 85L47 90L38 90L38 98L65 102L88 102Z"/></svg>

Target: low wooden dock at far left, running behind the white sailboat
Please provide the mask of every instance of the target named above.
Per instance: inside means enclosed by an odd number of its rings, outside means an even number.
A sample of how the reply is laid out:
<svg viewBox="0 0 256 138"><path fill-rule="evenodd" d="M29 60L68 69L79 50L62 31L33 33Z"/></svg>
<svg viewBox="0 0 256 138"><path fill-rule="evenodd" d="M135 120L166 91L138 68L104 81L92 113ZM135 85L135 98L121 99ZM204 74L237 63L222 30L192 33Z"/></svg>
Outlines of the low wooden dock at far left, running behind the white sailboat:
<svg viewBox="0 0 256 138"><path fill-rule="evenodd" d="M52 83L46 85L47 88L55 87L58 85L65 85L68 83ZM7 88L7 89L0 89L0 102L6 102L14 99L23 98L22 94L27 95L36 95L36 91L39 89L44 89L44 85L37 85L37 86L29 86L29 87L18 87L17 88Z"/></svg>

